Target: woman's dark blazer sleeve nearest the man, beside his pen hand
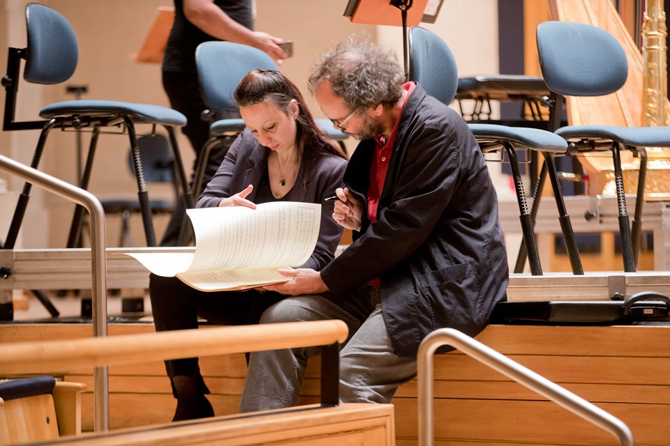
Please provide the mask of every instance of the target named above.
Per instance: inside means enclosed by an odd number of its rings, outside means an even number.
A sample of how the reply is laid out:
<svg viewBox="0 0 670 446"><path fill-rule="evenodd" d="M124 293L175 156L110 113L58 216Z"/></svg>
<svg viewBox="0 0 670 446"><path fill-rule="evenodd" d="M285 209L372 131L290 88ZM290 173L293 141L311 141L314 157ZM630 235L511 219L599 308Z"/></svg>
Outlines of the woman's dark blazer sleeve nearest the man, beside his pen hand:
<svg viewBox="0 0 670 446"><path fill-rule="evenodd" d="M318 165L312 184L315 185L315 202L321 203L321 227L319 240L311 257L300 268L321 270L335 257L335 250L342 238L343 228L333 220L333 202L323 201L335 194L337 187L342 187L342 178L347 167L343 158L323 157Z"/></svg>

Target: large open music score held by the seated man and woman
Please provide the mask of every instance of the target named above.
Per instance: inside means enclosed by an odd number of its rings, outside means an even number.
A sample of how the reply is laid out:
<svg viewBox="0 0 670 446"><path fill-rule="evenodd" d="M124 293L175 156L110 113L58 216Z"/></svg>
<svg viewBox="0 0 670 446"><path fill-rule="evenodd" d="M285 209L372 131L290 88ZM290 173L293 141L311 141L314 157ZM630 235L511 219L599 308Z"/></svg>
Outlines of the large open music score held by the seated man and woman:
<svg viewBox="0 0 670 446"><path fill-rule="evenodd" d="M186 210L194 252L127 254L147 270L200 291L233 291L288 282L278 268L305 263L319 238L321 205L278 201Z"/></svg>

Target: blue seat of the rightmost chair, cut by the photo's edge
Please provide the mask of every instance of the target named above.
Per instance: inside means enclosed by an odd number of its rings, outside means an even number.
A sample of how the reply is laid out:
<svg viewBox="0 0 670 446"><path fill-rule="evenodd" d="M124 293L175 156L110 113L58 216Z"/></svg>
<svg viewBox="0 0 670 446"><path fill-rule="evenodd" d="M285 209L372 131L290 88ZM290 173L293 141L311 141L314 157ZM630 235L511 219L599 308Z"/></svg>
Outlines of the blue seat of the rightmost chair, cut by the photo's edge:
<svg viewBox="0 0 670 446"><path fill-rule="evenodd" d="M568 125L556 130L568 141L596 139L618 141L632 147L670 147L670 127L616 127L614 125ZM609 150L609 148L605 148Z"/></svg>

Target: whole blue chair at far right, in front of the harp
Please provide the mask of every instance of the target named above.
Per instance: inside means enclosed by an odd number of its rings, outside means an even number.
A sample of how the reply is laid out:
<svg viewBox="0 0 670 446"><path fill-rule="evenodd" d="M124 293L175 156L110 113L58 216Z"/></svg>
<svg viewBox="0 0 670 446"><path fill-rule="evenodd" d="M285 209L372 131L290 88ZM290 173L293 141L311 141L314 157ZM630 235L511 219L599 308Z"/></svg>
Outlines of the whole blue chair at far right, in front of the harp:
<svg viewBox="0 0 670 446"><path fill-rule="evenodd" d="M564 97L600 96L613 93L628 76L626 54L618 40L603 29L572 22L544 22L537 27L537 49L542 75L551 90L553 116L563 109ZM550 118L550 121L551 118ZM569 125L556 134L569 142L569 153L611 151L619 213L623 264L636 270L641 238L642 207L646 174L646 147L670 147L670 127L617 127L613 125ZM640 171L631 233L623 187L620 151L639 155Z"/></svg>

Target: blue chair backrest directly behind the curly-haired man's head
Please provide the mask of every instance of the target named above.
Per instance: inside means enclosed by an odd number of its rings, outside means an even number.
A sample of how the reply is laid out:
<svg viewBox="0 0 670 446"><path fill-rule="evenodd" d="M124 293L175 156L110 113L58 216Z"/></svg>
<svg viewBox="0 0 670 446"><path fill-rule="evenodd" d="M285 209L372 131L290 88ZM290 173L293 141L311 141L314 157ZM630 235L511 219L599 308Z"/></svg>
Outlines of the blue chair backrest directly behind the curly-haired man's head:
<svg viewBox="0 0 670 446"><path fill-rule="evenodd" d="M456 97L459 73L454 54L440 36L419 26L410 28L408 80L449 105Z"/></svg>

